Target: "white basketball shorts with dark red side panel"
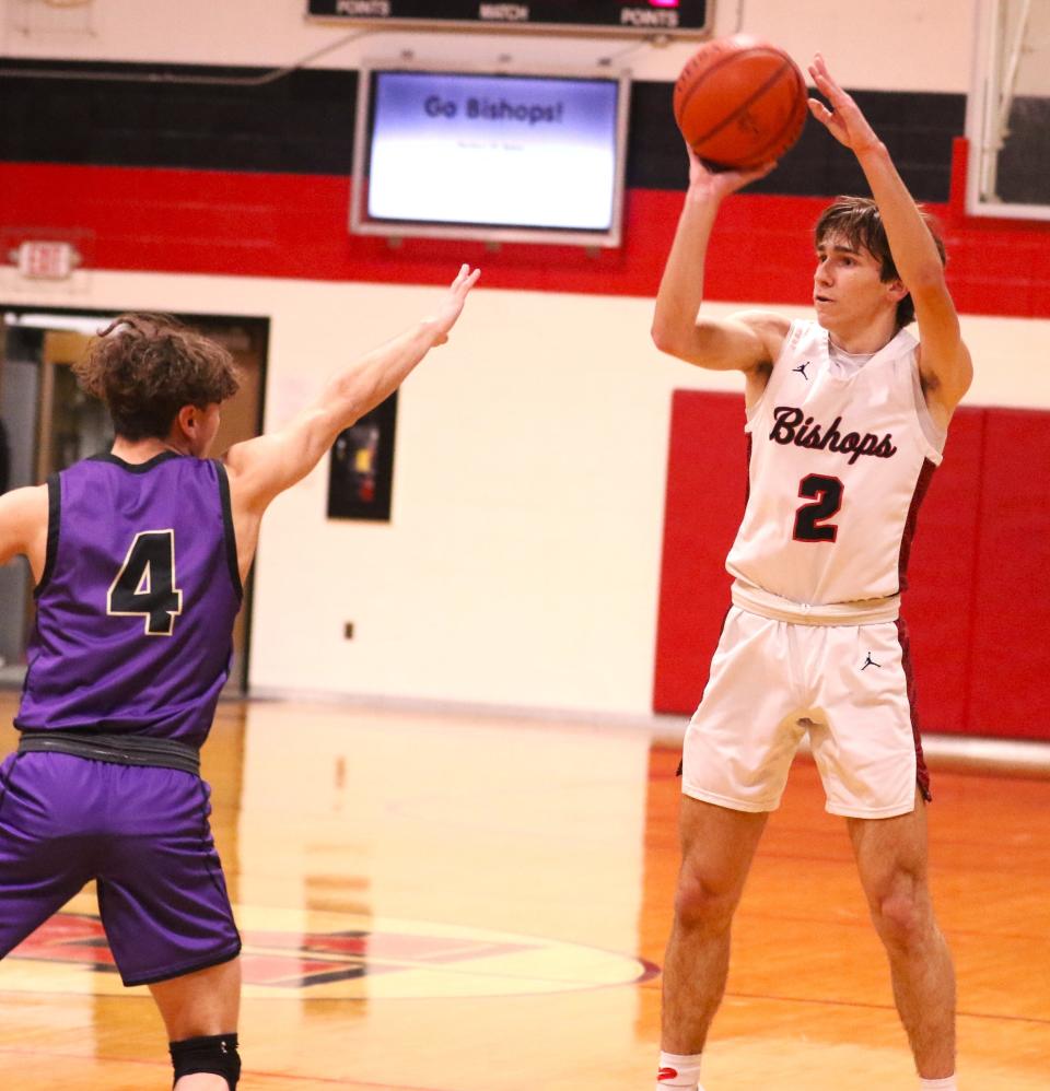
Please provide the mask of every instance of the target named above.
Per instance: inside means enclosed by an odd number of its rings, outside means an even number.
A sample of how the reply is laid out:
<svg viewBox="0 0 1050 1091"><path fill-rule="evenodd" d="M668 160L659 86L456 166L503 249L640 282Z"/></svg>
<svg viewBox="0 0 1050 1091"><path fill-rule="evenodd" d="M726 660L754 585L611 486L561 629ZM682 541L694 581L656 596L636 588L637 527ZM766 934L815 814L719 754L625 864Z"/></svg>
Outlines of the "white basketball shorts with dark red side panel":
<svg viewBox="0 0 1050 1091"><path fill-rule="evenodd" d="M831 814L907 814L917 784L930 798L913 697L902 622L798 625L733 607L686 731L681 790L775 810L808 732Z"/></svg>

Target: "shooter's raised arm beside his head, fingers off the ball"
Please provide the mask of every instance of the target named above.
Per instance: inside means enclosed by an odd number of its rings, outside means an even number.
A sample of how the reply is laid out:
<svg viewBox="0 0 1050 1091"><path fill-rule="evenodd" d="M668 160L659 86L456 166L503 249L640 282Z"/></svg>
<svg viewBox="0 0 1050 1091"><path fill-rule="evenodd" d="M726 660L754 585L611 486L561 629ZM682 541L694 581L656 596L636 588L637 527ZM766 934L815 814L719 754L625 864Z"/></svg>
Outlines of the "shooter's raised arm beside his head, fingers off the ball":
<svg viewBox="0 0 1050 1091"><path fill-rule="evenodd" d="M813 116L856 156L878 206L894 263L911 293L919 320L919 371L926 401L942 424L958 404L973 377L970 354L962 343L959 319L944 277L936 244L905 185L886 145L860 107L835 81L817 54L809 74L831 104L809 99Z"/></svg>

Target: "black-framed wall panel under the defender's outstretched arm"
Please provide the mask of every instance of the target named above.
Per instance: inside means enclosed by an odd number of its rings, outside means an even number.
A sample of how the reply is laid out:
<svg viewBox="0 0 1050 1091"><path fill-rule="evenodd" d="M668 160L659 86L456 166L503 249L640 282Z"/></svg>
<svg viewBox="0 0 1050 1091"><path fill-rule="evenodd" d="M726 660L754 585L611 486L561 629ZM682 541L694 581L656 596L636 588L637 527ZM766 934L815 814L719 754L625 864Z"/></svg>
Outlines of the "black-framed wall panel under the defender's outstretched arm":
<svg viewBox="0 0 1050 1091"><path fill-rule="evenodd" d="M390 521L397 391L343 429L328 462L328 518Z"/></svg>

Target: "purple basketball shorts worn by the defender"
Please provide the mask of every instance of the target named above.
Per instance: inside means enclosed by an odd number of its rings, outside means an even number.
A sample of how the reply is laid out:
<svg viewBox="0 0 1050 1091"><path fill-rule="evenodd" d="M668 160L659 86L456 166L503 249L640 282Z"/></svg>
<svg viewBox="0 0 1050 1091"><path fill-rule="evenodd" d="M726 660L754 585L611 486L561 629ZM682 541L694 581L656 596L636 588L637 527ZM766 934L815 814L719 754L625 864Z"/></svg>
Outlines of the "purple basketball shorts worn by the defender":
<svg viewBox="0 0 1050 1091"><path fill-rule="evenodd" d="M208 785L190 773L60 753L0 766L0 958L86 882L125 985L236 957Z"/></svg>

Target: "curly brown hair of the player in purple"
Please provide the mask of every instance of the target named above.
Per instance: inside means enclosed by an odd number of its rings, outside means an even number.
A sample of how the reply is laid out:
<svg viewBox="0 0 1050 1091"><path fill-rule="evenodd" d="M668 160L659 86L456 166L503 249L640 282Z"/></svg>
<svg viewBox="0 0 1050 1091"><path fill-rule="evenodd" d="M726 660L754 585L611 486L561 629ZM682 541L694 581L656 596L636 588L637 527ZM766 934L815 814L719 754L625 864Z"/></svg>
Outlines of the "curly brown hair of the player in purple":
<svg viewBox="0 0 1050 1091"><path fill-rule="evenodd" d="M80 385L105 402L125 439L163 439L183 406L203 409L237 392L233 357L170 315L118 315L73 364Z"/></svg>

